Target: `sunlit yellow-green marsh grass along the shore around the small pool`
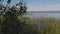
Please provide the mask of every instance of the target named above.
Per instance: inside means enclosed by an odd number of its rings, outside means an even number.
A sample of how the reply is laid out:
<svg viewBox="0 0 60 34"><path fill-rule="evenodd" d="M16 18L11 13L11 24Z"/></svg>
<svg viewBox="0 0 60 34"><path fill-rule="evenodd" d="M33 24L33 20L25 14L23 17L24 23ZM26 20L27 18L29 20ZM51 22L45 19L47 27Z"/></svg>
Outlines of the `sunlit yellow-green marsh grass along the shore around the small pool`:
<svg viewBox="0 0 60 34"><path fill-rule="evenodd" d="M50 23L48 24L48 27L45 27L43 29L37 28L37 25L35 24L34 19L30 19L29 17L22 17L17 16L18 20L21 22L25 22L25 24L30 25L30 29L36 30L38 34L60 34L60 19L51 18L51 17L41 17L37 18L40 23ZM4 18L1 15L0 16L0 22L3 22Z"/></svg>

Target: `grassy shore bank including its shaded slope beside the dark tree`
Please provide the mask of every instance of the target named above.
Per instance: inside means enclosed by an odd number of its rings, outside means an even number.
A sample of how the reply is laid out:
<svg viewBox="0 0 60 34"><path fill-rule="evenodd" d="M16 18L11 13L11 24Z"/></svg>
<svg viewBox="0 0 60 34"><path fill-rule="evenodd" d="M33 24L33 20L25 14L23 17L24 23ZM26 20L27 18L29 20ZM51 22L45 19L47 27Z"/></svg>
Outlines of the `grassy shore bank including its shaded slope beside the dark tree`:
<svg viewBox="0 0 60 34"><path fill-rule="evenodd" d="M0 16L0 22L3 23L5 18L3 16ZM22 16L17 16L17 19L19 21L20 26L24 31L29 34L60 34L60 20L56 18L51 18L51 17L40 17L37 18L39 23L49 23L45 28L38 28L37 25L35 24L35 19L30 19L29 17L22 17ZM23 25L22 25L23 24ZM1 25L0 25L1 26ZM20 27L20 28L21 28ZM0 31L1 31L0 27Z"/></svg>

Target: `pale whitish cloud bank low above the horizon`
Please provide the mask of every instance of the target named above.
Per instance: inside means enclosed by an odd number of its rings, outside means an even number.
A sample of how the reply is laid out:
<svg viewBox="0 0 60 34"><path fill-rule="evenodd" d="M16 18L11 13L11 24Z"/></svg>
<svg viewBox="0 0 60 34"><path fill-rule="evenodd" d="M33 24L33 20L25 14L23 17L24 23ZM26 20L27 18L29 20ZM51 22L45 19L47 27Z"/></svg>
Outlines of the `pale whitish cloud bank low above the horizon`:
<svg viewBox="0 0 60 34"><path fill-rule="evenodd" d="M60 5L32 6L28 11L60 11Z"/></svg>

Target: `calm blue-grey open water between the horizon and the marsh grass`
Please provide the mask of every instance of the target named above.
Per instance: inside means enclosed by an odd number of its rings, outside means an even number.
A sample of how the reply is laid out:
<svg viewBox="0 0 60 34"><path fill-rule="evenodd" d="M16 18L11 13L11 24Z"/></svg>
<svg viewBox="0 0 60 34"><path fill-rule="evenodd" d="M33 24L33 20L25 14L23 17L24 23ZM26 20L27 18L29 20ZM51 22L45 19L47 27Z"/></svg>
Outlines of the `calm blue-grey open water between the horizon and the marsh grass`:
<svg viewBox="0 0 60 34"><path fill-rule="evenodd" d="M31 11L28 12L30 18L37 18L37 17L54 17L60 18L60 11Z"/></svg>

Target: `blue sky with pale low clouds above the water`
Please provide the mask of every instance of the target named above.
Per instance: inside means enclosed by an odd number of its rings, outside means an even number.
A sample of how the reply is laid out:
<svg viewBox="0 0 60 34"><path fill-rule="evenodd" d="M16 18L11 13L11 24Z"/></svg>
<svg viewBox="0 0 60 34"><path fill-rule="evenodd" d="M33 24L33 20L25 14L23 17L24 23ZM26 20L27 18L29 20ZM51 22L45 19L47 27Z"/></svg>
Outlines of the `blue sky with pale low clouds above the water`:
<svg viewBox="0 0 60 34"><path fill-rule="evenodd" d="M18 2L19 0L12 0L11 5ZM27 11L60 11L60 0L26 0L26 3Z"/></svg>

